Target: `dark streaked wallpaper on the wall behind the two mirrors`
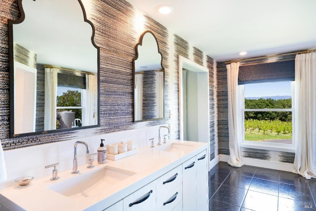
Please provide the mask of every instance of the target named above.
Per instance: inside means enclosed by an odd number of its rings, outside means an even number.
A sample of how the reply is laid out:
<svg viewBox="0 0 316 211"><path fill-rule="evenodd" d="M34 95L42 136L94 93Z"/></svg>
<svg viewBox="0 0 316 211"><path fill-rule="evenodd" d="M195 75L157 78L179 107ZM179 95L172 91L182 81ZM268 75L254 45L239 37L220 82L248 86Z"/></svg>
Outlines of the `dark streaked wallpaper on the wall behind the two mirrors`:
<svg viewBox="0 0 316 211"><path fill-rule="evenodd" d="M75 1L76 2L76 1ZM0 2L0 140L4 150L47 144L103 133L154 125L173 125L171 138L179 139L179 54L209 68L210 154L215 157L216 63L170 30L124 0L87 0L87 18L95 27L95 43L100 47L99 128L9 139L9 66L7 20L18 19L15 0ZM87 9L88 8L88 9ZM151 30L163 55L165 68L165 120L133 123L132 59L140 35ZM174 113L169 118L169 110Z"/></svg>

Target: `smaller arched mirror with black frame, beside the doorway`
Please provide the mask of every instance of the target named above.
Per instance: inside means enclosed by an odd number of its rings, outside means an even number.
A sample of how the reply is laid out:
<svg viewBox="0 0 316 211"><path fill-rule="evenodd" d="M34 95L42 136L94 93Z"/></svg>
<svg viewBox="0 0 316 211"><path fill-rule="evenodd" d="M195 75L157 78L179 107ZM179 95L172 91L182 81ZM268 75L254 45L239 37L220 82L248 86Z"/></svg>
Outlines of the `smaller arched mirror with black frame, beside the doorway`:
<svg viewBox="0 0 316 211"><path fill-rule="evenodd" d="M136 46L134 62L134 122L164 118L162 55L155 35L145 31Z"/></svg>

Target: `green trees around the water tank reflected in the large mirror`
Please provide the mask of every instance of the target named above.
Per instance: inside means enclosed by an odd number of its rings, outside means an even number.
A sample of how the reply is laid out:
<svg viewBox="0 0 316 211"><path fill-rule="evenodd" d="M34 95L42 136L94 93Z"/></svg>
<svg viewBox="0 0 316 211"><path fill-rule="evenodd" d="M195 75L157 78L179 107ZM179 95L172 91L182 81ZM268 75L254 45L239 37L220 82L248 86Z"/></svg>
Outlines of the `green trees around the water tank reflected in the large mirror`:
<svg viewBox="0 0 316 211"><path fill-rule="evenodd" d="M69 106L81 106L81 93L78 90L67 90L63 95L57 96L57 107L69 107ZM71 111L75 113L76 119L82 120L82 109L57 109L57 113L61 111ZM60 117L56 120L56 129L62 124ZM78 122L78 126L81 127L81 123Z"/></svg>

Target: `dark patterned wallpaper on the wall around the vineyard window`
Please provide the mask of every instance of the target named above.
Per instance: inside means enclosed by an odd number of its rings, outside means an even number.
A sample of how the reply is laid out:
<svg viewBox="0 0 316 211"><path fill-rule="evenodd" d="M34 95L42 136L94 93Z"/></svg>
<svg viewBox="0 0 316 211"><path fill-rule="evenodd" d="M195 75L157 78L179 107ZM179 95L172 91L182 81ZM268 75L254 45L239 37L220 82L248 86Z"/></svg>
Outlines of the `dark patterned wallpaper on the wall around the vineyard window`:
<svg viewBox="0 0 316 211"><path fill-rule="evenodd" d="M295 54L276 56L268 59L256 59L240 62L240 65L262 64L277 61L293 60ZM227 93L227 69L224 62L217 63L217 128L218 128L218 154L229 155L228 137L228 93ZM278 152L271 150L241 148L241 156L283 163L293 163L295 153Z"/></svg>

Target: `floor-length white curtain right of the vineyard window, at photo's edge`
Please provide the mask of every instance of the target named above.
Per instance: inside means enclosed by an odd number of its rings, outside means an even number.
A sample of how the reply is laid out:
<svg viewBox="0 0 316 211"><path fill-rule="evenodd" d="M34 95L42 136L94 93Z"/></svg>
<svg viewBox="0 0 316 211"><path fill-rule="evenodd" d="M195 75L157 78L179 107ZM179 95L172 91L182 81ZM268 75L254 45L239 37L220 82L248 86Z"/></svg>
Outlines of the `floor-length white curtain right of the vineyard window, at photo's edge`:
<svg viewBox="0 0 316 211"><path fill-rule="evenodd" d="M295 159L294 173L315 178L316 53L295 57Z"/></svg>

